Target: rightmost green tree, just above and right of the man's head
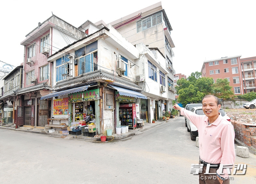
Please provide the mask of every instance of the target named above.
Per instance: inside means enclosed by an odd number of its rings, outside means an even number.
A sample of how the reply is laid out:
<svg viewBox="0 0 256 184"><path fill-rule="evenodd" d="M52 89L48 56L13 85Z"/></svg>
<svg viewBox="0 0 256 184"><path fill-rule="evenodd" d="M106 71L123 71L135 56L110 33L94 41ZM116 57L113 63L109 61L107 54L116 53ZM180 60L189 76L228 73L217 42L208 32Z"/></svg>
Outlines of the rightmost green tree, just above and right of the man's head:
<svg viewBox="0 0 256 184"><path fill-rule="evenodd" d="M231 90L232 86L229 85L228 79L217 78L216 83L213 84L213 95L222 99L222 104L224 106L224 100L234 97L234 92Z"/></svg>

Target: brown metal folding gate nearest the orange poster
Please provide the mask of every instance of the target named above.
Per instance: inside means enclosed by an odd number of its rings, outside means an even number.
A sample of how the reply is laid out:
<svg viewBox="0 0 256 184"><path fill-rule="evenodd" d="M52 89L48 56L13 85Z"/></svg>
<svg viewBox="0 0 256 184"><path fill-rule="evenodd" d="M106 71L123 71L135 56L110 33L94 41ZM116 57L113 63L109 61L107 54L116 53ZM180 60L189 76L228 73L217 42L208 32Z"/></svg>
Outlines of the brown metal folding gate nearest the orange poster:
<svg viewBox="0 0 256 184"><path fill-rule="evenodd" d="M38 111L38 121L37 121L37 126L44 127L45 125L48 124L47 119L48 119L48 100L38 100L39 101L39 111Z"/></svg>

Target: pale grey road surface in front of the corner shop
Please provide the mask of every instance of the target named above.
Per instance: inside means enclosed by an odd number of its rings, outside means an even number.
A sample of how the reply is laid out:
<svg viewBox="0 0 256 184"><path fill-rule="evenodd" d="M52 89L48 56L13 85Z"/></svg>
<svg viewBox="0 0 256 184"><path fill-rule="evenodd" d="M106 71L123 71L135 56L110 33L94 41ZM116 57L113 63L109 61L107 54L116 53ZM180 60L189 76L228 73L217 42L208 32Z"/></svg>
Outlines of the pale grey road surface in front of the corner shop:
<svg viewBox="0 0 256 184"><path fill-rule="evenodd" d="M121 141L96 143L0 129L0 183L198 183L190 174L199 148L184 117ZM236 158L247 173L230 183L256 183L256 155Z"/></svg>

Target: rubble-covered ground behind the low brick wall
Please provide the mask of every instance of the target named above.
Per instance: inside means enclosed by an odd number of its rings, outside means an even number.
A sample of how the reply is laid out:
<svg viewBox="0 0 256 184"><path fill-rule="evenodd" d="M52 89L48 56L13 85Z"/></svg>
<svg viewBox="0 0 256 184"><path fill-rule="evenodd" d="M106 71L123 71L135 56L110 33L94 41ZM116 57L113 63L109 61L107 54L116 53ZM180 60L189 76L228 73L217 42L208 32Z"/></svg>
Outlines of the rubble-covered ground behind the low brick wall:
<svg viewBox="0 0 256 184"><path fill-rule="evenodd" d="M255 110L235 110L226 111L228 117L231 120L240 121L243 123L256 123L256 111Z"/></svg>

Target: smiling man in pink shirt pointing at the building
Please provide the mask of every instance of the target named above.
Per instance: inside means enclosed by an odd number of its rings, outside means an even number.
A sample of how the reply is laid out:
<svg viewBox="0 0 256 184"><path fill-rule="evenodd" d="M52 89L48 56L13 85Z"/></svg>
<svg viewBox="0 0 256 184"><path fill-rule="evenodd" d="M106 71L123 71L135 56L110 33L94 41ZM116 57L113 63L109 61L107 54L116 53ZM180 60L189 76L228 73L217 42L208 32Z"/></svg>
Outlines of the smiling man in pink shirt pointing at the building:
<svg viewBox="0 0 256 184"><path fill-rule="evenodd" d="M219 113L220 102L216 96L206 95L202 104L205 115L197 115L177 104L173 107L198 129L199 163L204 164L203 172L199 173L199 184L229 184L229 168L231 171L235 163L234 127ZM209 172L206 172L207 163L210 163Z"/></svg>

